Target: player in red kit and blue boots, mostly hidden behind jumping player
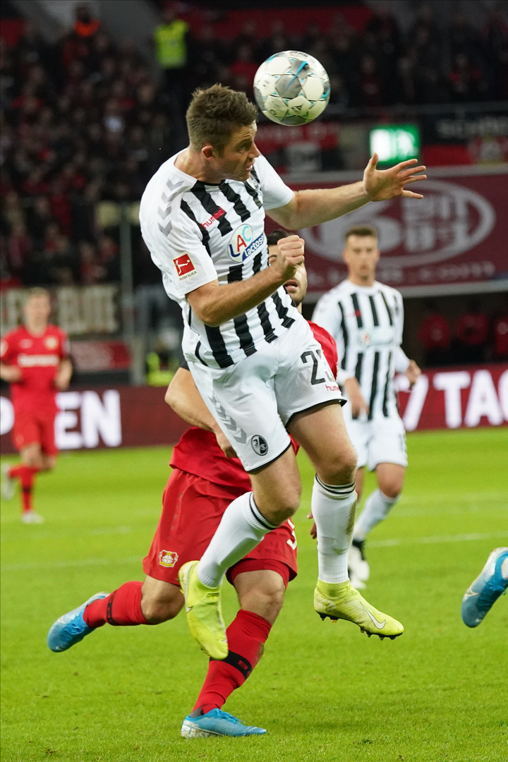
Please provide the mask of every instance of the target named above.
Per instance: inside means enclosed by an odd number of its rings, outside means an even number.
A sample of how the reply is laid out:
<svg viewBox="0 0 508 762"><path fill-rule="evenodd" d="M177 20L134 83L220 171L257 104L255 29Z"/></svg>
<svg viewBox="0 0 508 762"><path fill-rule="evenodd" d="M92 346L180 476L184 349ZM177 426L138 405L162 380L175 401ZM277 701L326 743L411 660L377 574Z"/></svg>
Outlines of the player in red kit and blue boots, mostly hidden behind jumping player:
<svg viewBox="0 0 508 762"><path fill-rule="evenodd" d="M306 288L302 265L287 289L293 300L300 303ZM335 371L335 342L323 328L312 324L311 327ZM60 617L48 635L48 645L53 651L66 650L107 623L148 625L177 616L184 606L178 570L190 559L200 558L228 504L251 489L248 474L185 367L175 374L166 402L193 425L174 448L173 472L162 498L161 518L143 561L145 581L126 582L111 594L98 593ZM296 449L296 443L292 444ZM193 712L184 719L182 735L195 738L264 733L263 728L244 725L228 712L222 712L222 706L260 660L264 643L283 606L287 584L296 573L296 535L290 520L268 533L262 543L228 569L228 581L234 585L240 604L226 631L228 656L222 661L210 659Z"/></svg>

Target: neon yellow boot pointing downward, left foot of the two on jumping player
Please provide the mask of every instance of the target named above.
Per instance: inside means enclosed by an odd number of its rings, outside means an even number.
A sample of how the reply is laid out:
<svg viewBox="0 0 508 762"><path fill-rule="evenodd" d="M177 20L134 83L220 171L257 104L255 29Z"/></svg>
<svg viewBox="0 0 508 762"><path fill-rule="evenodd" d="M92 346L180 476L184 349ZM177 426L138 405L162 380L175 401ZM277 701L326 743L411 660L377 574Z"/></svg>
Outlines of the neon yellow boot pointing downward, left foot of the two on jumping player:
<svg viewBox="0 0 508 762"><path fill-rule="evenodd" d="M225 659L228 639L222 619L220 588L208 588L197 576L199 561L189 561L178 572L190 634L212 659Z"/></svg>

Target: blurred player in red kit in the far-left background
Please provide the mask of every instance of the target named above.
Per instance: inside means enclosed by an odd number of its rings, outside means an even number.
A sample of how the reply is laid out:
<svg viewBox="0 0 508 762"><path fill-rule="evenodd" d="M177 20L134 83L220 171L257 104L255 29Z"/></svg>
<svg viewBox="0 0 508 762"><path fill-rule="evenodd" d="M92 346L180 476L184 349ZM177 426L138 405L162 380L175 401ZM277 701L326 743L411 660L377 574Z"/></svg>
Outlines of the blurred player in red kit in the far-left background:
<svg viewBox="0 0 508 762"><path fill-rule="evenodd" d="M41 523L32 492L37 473L56 465L56 392L69 386L72 363L65 331L48 320L50 294L31 289L24 303L24 325L2 337L0 376L11 385L14 407L14 447L21 463L2 465L2 497L12 498L15 480L21 485L21 520Z"/></svg>

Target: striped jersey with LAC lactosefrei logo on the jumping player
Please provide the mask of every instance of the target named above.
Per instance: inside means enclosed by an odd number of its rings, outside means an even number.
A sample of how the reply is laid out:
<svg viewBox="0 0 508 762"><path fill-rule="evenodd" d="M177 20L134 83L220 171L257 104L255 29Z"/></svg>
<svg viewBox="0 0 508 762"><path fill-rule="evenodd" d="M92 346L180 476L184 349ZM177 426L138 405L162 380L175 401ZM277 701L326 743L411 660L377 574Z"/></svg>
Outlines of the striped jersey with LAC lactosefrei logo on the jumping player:
<svg viewBox="0 0 508 762"><path fill-rule="evenodd" d="M212 328L192 312L186 295L212 280L221 285L246 280L268 267L264 210L285 206L293 191L264 156L256 159L249 180L216 185L177 169L176 158L169 158L145 188L141 232L166 293L181 305L184 354L225 368L274 341L302 316L280 287L259 306Z"/></svg>

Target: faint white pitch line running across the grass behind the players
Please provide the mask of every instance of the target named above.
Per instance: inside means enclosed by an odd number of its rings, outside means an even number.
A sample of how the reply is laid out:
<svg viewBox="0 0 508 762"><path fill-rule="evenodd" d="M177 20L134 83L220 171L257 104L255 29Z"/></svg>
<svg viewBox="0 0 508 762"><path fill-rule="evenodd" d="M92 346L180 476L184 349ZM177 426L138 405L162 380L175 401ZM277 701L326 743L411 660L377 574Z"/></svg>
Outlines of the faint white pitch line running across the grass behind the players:
<svg viewBox="0 0 508 762"><path fill-rule="evenodd" d="M467 543L471 540L478 539L497 539L499 537L506 538L508 542L508 532L487 532L487 533L470 533L470 534L450 534L443 536L430 536L430 537L411 537L403 539L379 539L369 543L370 548L391 548L399 545L433 545L439 543ZM140 563L141 558L139 555L131 555L126 559L73 559L69 561L48 561L48 562L34 562L34 563L18 563L18 564L2 564L2 571L23 571L24 569L58 569L58 568L72 568L80 566L109 566L120 564L133 564Z"/></svg>

